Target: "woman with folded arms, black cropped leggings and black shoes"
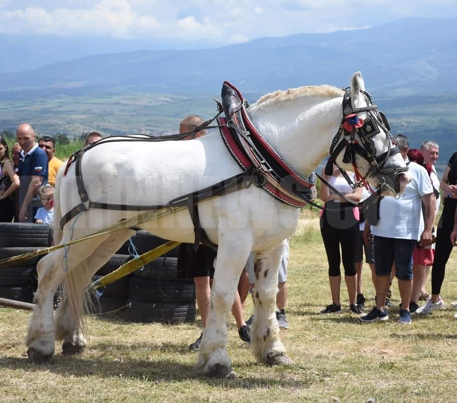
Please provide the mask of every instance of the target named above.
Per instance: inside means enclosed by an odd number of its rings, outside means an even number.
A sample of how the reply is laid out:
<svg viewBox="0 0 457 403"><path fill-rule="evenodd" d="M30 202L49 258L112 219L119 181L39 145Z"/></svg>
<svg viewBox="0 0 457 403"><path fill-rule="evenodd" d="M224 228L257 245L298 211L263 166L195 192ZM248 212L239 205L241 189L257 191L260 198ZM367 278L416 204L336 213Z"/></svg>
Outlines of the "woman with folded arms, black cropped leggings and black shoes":
<svg viewBox="0 0 457 403"><path fill-rule="evenodd" d="M334 165L332 176L325 175L324 171L321 172L321 175L346 197L356 202L360 201L362 188L352 189L336 165ZM354 177L352 179L354 180ZM353 205L347 203L323 183L320 187L319 197L325 202L325 210L320 219L320 233L325 246L325 253L327 253L327 259L329 260L329 282L332 294L332 304L325 307L320 313L341 312L341 260L343 260L345 282L349 294L349 309L354 313L363 313L362 307L356 304L357 272L355 255L359 236L358 210L357 208L354 209Z"/></svg>

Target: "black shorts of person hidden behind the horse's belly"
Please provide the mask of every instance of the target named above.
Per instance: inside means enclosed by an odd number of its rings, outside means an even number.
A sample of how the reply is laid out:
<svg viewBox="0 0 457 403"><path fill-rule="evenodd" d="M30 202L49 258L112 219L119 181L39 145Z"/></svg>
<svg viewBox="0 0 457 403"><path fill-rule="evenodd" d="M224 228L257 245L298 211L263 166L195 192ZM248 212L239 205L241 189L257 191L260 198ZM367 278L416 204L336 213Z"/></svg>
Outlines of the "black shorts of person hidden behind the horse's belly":
<svg viewBox="0 0 457 403"><path fill-rule="evenodd" d="M195 252L193 244L181 243L178 249L178 278L214 276L216 251L209 246L200 245Z"/></svg>

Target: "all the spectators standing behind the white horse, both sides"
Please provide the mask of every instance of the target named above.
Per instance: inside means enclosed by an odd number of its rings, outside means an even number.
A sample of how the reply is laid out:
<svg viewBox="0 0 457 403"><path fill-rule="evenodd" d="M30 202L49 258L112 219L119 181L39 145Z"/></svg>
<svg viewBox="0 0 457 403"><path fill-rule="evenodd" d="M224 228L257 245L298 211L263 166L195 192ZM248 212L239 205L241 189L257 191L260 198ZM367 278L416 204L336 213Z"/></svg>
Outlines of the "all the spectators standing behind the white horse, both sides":
<svg viewBox="0 0 457 403"><path fill-rule="evenodd" d="M183 140L205 136L203 119L187 116L179 132L189 133ZM197 130L198 128L198 130ZM85 146L102 139L96 131L88 133ZM36 222L52 224L53 192L58 169L63 162L55 157L55 141L43 136L38 142L32 126L20 124L11 149L0 136L0 222ZM411 323L411 313L429 314L444 307L440 297L445 266L457 239L457 152L449 159L442 179L435 164L439 147L426 141L421 149L409 149L406 136L397 135L397 147L409 166L411 182L402 197L383 197L364 210L354 207L369 197L362 187L351 186L337 165L332 172L322 170L329 183L321 184L319 198L324 202L320 215L320 232L329 264L329 284L332 302L321 314L342 312L341 262L348 292L349 311L360 315L363 322L388 320L386 307L391 306L391 284L397 277L401 298L399 322ZM350 174L354 181L354 174ZM440 192L442 190L442 194ZM343 197L342 197L343 195ZM443 201L441 201L443 199ZM352 203L349 203L352 201ZM443 212L435 230L434 222L440 203ZM211 286L217 248L181 244L178 252L178 274L193 278L195 296L203 327L208 322ZM371 270L376 292L375 306L365 312L367 298L363 293L363 254ZM289 240L283 242L283 258L278 277L277 312L279 326L288 328L287 265ZM244 320L244 306L252 293L255 279L252 253L241 273L232 314L241 340L250 342L251 316ZM431 295L426 292L431 267ZM425 303L419 306L420 301ZM453 304L457 307L457 303ZM457 317L457 315L456 315ZM189 346L198 349L202 335Z"/></svg>

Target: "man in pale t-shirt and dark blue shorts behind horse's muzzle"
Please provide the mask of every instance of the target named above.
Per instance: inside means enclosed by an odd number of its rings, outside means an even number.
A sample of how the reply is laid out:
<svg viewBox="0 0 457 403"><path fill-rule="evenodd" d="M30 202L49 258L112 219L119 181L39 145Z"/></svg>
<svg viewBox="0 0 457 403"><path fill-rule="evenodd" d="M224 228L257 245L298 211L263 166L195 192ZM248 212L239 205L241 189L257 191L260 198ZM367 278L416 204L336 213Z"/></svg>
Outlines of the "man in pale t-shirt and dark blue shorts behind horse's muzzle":
<svg viewBox="0 0 457 403"><path fill-rule="evenodd" d="M395 138L405 161L409 149L408 138ZM379 222L371 228L374 235L374 266L376 271L376 307L360 319L364 322L387 320L385 295L390 285L390 272L395 263L402 307L399 322L411 323L409 304L413 278L413 249L418 240L422 246L432 242L431 229L435 219L435 194L424 167L411 162L408 174L411 182L400 198L384 197L379 208ZM421 204L426 218L422 217ZM425 226L424 226L425 221Z"/></svg>

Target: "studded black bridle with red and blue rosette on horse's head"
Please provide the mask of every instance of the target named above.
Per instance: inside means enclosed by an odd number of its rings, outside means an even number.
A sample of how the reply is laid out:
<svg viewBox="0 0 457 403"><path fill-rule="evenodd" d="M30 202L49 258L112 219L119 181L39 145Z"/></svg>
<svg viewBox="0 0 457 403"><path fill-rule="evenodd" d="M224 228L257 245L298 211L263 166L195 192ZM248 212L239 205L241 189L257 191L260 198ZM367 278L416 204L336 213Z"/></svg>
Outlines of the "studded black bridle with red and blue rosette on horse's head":
<svg viewBox="0 0 457 403"><path fill-rule="evenodd" d="M341 173L348 181L352 188L368 186L366 178L368 176L379 176L379 183L382 190L391 190L397 193L395 189L385 181L384 175L401 173L408 170L408 167L403 168L383 168L387 160L394 154L400 153L399 148L396 146L393 136L390 134L390 126L387 122L385 115L378 111L377 106L373 104L371 95L366 91L360 91L366 98L368 105L362 108L354 108L351 101L350 88L345 89L343 97L343 119L340 128L332 141L330 146L330 159L325 174L332 175L332 163L336 163L337 157L344 150L343 163L352 164L356 175L356 182L354 183L344 169L340 168ZM366 112L367 116L364 120L358 117L358 113ZM388 149L386 152L376 156L376 149L372 138L382 131L387 136ZM360 138L359 143L355 139L356 133ZM356 165L356 154L360 155L369 164L365 176L362 176Z"/></svg>

